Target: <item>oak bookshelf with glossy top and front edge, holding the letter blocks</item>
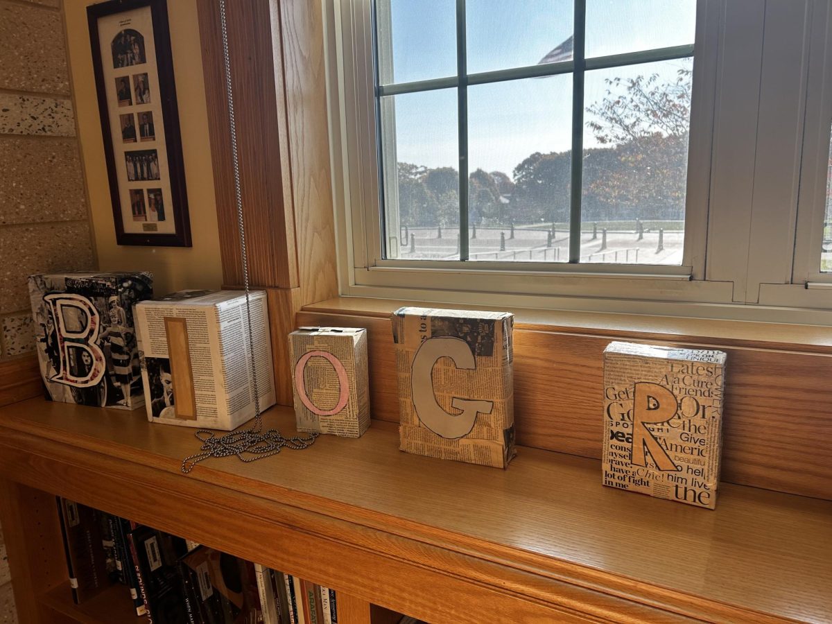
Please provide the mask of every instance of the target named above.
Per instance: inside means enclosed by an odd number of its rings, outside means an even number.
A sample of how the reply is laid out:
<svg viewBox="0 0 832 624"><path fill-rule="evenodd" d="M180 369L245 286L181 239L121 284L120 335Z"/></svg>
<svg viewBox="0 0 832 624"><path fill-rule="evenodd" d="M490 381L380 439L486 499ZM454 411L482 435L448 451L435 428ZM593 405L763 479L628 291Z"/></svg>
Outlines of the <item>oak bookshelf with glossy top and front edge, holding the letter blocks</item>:
<svg viewBox="0 0 832 624"><path fill-rule="evenodd" d="M294 431L289 409L265 420ZM381 622L371 605L454 623L832 622L832 502L726 483L716 511L691 508L603 488L597 460L563 453L520 448L505 471L400 453L392 423L181 474L196 448L141 411L0 408L22 621L114 621L106 595L81 610L61 587L44 546L60 494L333 587L346 624Z"/></svg>

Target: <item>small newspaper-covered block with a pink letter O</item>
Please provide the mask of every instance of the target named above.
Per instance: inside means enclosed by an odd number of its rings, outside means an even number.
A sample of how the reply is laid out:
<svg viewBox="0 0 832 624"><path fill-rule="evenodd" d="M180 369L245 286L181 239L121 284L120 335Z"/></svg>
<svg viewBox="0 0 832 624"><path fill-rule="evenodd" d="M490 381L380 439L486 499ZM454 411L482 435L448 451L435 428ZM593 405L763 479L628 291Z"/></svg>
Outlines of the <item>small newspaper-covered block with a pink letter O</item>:
<svg viewBox="0 0 832 624"><path fill-rule="evenodd" d="M360 438L369 427L367 330L301 327L289 334L298 431Z"/></svg>

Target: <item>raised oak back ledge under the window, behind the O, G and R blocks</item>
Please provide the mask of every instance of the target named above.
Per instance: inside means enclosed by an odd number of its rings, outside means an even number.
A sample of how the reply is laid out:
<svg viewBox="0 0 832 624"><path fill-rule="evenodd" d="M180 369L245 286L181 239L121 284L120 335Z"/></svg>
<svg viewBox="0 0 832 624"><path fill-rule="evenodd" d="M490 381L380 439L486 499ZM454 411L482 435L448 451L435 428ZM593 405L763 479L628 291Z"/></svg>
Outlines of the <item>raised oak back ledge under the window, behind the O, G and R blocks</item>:
<svg viewBox="0 0 832 624"><path fill-rule="evenodd" d="M399 388L389 315L400 305L341 297L306 305L297 325L369 333L373 418L398 422ZM459 306L456 306L459 307ZM722 478L832 500L832 330L797 324L638 314L513 310L514 417L519 444L600 458L603 350L636 340L728 353ZM807 449L812 449L807 452Z"/></svg>

